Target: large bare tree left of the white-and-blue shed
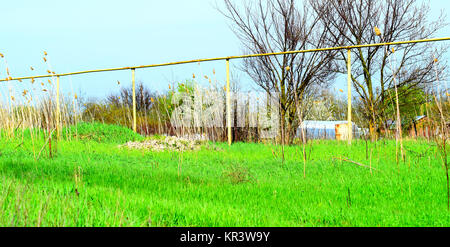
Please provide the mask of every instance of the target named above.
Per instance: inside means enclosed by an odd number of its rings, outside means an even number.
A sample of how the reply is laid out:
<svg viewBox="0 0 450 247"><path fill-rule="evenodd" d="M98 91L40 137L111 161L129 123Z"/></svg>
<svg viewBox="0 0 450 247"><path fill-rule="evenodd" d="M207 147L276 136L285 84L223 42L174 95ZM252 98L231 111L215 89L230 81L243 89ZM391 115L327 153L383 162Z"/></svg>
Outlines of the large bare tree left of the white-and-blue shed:
<svg viewBox="0 0 450 247"><path fill-rule="evenodd" d="M224 11L245 52L272 53L322 47L331 40L319 17L295 0L224 0ZM241 7L239 7L241 6ZM296 99L311 86L328 84L336 52L298 53L244 60L242 69L271 97L279 99L280 137L290 143L298 126Z"/></svg>

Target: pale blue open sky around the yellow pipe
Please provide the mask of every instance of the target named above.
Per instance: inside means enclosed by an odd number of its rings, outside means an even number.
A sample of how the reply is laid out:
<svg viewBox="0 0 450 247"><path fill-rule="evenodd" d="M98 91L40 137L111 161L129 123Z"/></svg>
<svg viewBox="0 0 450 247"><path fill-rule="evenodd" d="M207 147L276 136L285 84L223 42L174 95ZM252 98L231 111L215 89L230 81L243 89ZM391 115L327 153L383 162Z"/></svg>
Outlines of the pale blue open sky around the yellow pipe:
<svg viewBox="0 0 450 247"><path fill-rule="evenodd" d="M44 50L57 73L241 54L239 40L215 2L3 0L0 52L13 77L46 74ZM430 3L433 15L450 9L448 0ZM439 36L450 32L443 30ZM4 67L0 64L2 78ZM192 73L212 76L212 69L217 80L224 81L224 61L137 70L136 79L162 91L171 81L192 78ZM131 72L73 76L61 84L66 92L103 96L117 91L117 80L130 83Z"/></svg>

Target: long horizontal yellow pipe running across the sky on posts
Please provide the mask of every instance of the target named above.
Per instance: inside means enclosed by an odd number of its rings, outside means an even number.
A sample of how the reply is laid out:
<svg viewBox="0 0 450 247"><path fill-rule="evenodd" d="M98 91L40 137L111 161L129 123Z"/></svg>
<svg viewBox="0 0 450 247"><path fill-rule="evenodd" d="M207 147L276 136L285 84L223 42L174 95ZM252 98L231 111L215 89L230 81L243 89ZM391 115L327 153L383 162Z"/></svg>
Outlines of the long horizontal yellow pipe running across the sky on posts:
<svg viewBox="0 0 450 247"><path fill-rule="evenodd" d="M365 45L339 46L339 47L317 48L317 49L310 49L310 50L298 50L298 51L286 51L286 52L273 52L273 53L263 53L263 54L250 54L250 55L231 56L231 57L216 57L216 58L196 59L196 60L187 60L187 61L171 62L171 63L142 65L142 66L134 66L134 67L121 67L121 68L110 68L110 69L85 70L85 71L70 72L70 73L64 73L64 74L16 77L16 78L11 78L10 80L9 79L0 79L0 82L1 81L17 81L17 80L26 80L26 79L47 78L47 77L53 77L53 76L80 75L80 74L95 73L95 72L107 72L107 71L129 70L129 69L144 69L144 68L153 68L153 67L163 67L163 66L169 66L169 65L177 65L177 64L200 63L200 62L210 62L210 61L218 61L218 60L230 60L230 59L239 59L239 58L276 56L276 55L284 55L284 54L308 53L308 52L331 51L331 50L343 50L343 49L375 47L375 46L384 46L384 45L403 45L403 44L411 44L411 43L425 43L425 42L436 42L436 41L447 41L447 40L450 40L450 37L447 37L447 38L435 38L435 39L422 39L422 40L397 41L397 42L389 42L389 43L365 44Z"/></svg>

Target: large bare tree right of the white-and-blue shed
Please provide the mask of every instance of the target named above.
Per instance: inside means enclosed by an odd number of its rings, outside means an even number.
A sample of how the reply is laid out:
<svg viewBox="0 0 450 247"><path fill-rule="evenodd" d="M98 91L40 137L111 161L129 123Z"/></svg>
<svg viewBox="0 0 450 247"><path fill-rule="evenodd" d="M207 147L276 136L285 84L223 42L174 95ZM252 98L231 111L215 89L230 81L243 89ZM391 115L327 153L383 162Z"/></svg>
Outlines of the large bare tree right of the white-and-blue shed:
<svg viewBox="0 0 450 247"><path fill-rule="evenodd" d="M443 14L429 21L429 3L416 0L310 0L323 26L332 34L329 45L359 45L427 39L443 28ZM380 30L381 29L381 30ZM372 139L383 127L386 111L399 98L410 97L418 87L436 80L433 51L436 44L407 44L353 49L352 81L363 103ZM436 55L440 59L444 47ZM340 52L345 60L345 51ZM344 63L339 72L347 73ZM356 65L356 66L355 66ZM443 70L440 71L442 73Z"/></svg>

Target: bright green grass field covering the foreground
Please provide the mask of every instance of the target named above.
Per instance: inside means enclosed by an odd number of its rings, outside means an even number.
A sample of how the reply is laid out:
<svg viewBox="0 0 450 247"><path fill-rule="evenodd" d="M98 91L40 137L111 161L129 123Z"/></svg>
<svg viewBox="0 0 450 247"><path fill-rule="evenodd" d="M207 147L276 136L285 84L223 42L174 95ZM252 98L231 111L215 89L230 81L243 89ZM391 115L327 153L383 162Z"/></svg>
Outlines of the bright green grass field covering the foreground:
<svg viewBox="0 0 450 247"><path fill-rule="evenodd" d="M364 141L314 141L304 177L301 146L282 163L268 144L154 153L119 148L142 139L119 127L79 132L38 161L43 138L1 139L0 226L450 226L432 142L406 141L397 165L395 141L369 142L367 159Z"/></svg>

